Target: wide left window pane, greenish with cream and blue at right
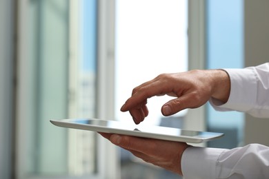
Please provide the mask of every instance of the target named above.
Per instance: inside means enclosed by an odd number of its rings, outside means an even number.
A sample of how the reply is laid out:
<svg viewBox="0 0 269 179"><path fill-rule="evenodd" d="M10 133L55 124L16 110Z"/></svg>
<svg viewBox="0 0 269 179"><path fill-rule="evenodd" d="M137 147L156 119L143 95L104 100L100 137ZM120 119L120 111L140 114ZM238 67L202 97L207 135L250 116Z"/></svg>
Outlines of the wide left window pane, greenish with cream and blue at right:
<svg viewBox="0 0 269 179"><path fill-rule="evenodd" d="M97 1L28 1L26 161L34 176L97 172L96 134L50 119L94 117Z"/></svg>

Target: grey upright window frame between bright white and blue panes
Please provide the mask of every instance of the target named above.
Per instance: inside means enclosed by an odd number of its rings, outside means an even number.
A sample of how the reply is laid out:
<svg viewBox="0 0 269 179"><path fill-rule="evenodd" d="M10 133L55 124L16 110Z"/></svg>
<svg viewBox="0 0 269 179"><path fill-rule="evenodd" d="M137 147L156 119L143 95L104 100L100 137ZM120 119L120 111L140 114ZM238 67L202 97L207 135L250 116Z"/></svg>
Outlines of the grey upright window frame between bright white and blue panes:
<svg viewBox="0 0 269 179"><path fill-rule="evenodd" d="M206 68L206 0L188 1L188 70ZM184 128L206 129L206 107L188 110ZM201 144L203 145L203 144Z"/></svg>

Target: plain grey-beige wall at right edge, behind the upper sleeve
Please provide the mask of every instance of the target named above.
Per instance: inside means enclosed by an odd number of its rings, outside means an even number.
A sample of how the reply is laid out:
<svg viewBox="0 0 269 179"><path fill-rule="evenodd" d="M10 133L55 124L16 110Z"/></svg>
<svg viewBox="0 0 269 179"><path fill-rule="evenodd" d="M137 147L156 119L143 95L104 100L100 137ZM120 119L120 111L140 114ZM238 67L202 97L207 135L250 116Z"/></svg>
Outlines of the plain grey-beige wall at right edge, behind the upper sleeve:
<svg viewBox="0 0 269 179"><path fill-rule="evenodd" d="M269 1L245 1L245 65L269 61ZM269 76L268 76L269 78ZM245 143L269 146L269 119L246 115Z"/></svg>

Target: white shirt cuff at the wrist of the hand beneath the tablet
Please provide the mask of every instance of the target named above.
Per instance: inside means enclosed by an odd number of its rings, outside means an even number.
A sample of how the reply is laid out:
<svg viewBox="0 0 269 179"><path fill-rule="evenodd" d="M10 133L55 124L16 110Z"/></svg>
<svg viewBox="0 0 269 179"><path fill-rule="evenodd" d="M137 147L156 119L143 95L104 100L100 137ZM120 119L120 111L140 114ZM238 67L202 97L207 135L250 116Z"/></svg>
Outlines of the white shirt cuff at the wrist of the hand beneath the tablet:
<svg viewBox="0 0 269 179"><path fill-rule="evenodd" d="M219 155L227 149L188 147L181 157L183 178L216 178Z"/></svg>

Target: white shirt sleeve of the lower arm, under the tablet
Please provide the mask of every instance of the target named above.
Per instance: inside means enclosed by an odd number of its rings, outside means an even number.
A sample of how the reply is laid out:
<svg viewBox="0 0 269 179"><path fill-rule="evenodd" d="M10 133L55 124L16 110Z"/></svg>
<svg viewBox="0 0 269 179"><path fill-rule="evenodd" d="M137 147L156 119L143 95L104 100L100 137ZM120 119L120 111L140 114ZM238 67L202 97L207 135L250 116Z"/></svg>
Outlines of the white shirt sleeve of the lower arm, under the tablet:
<svg viewBox="0 0 269 179"><path fill-rule="evenodd" d="M235 149L188 147L181 169L184 179L269 178L269 148L259 144Z"/></svg>

